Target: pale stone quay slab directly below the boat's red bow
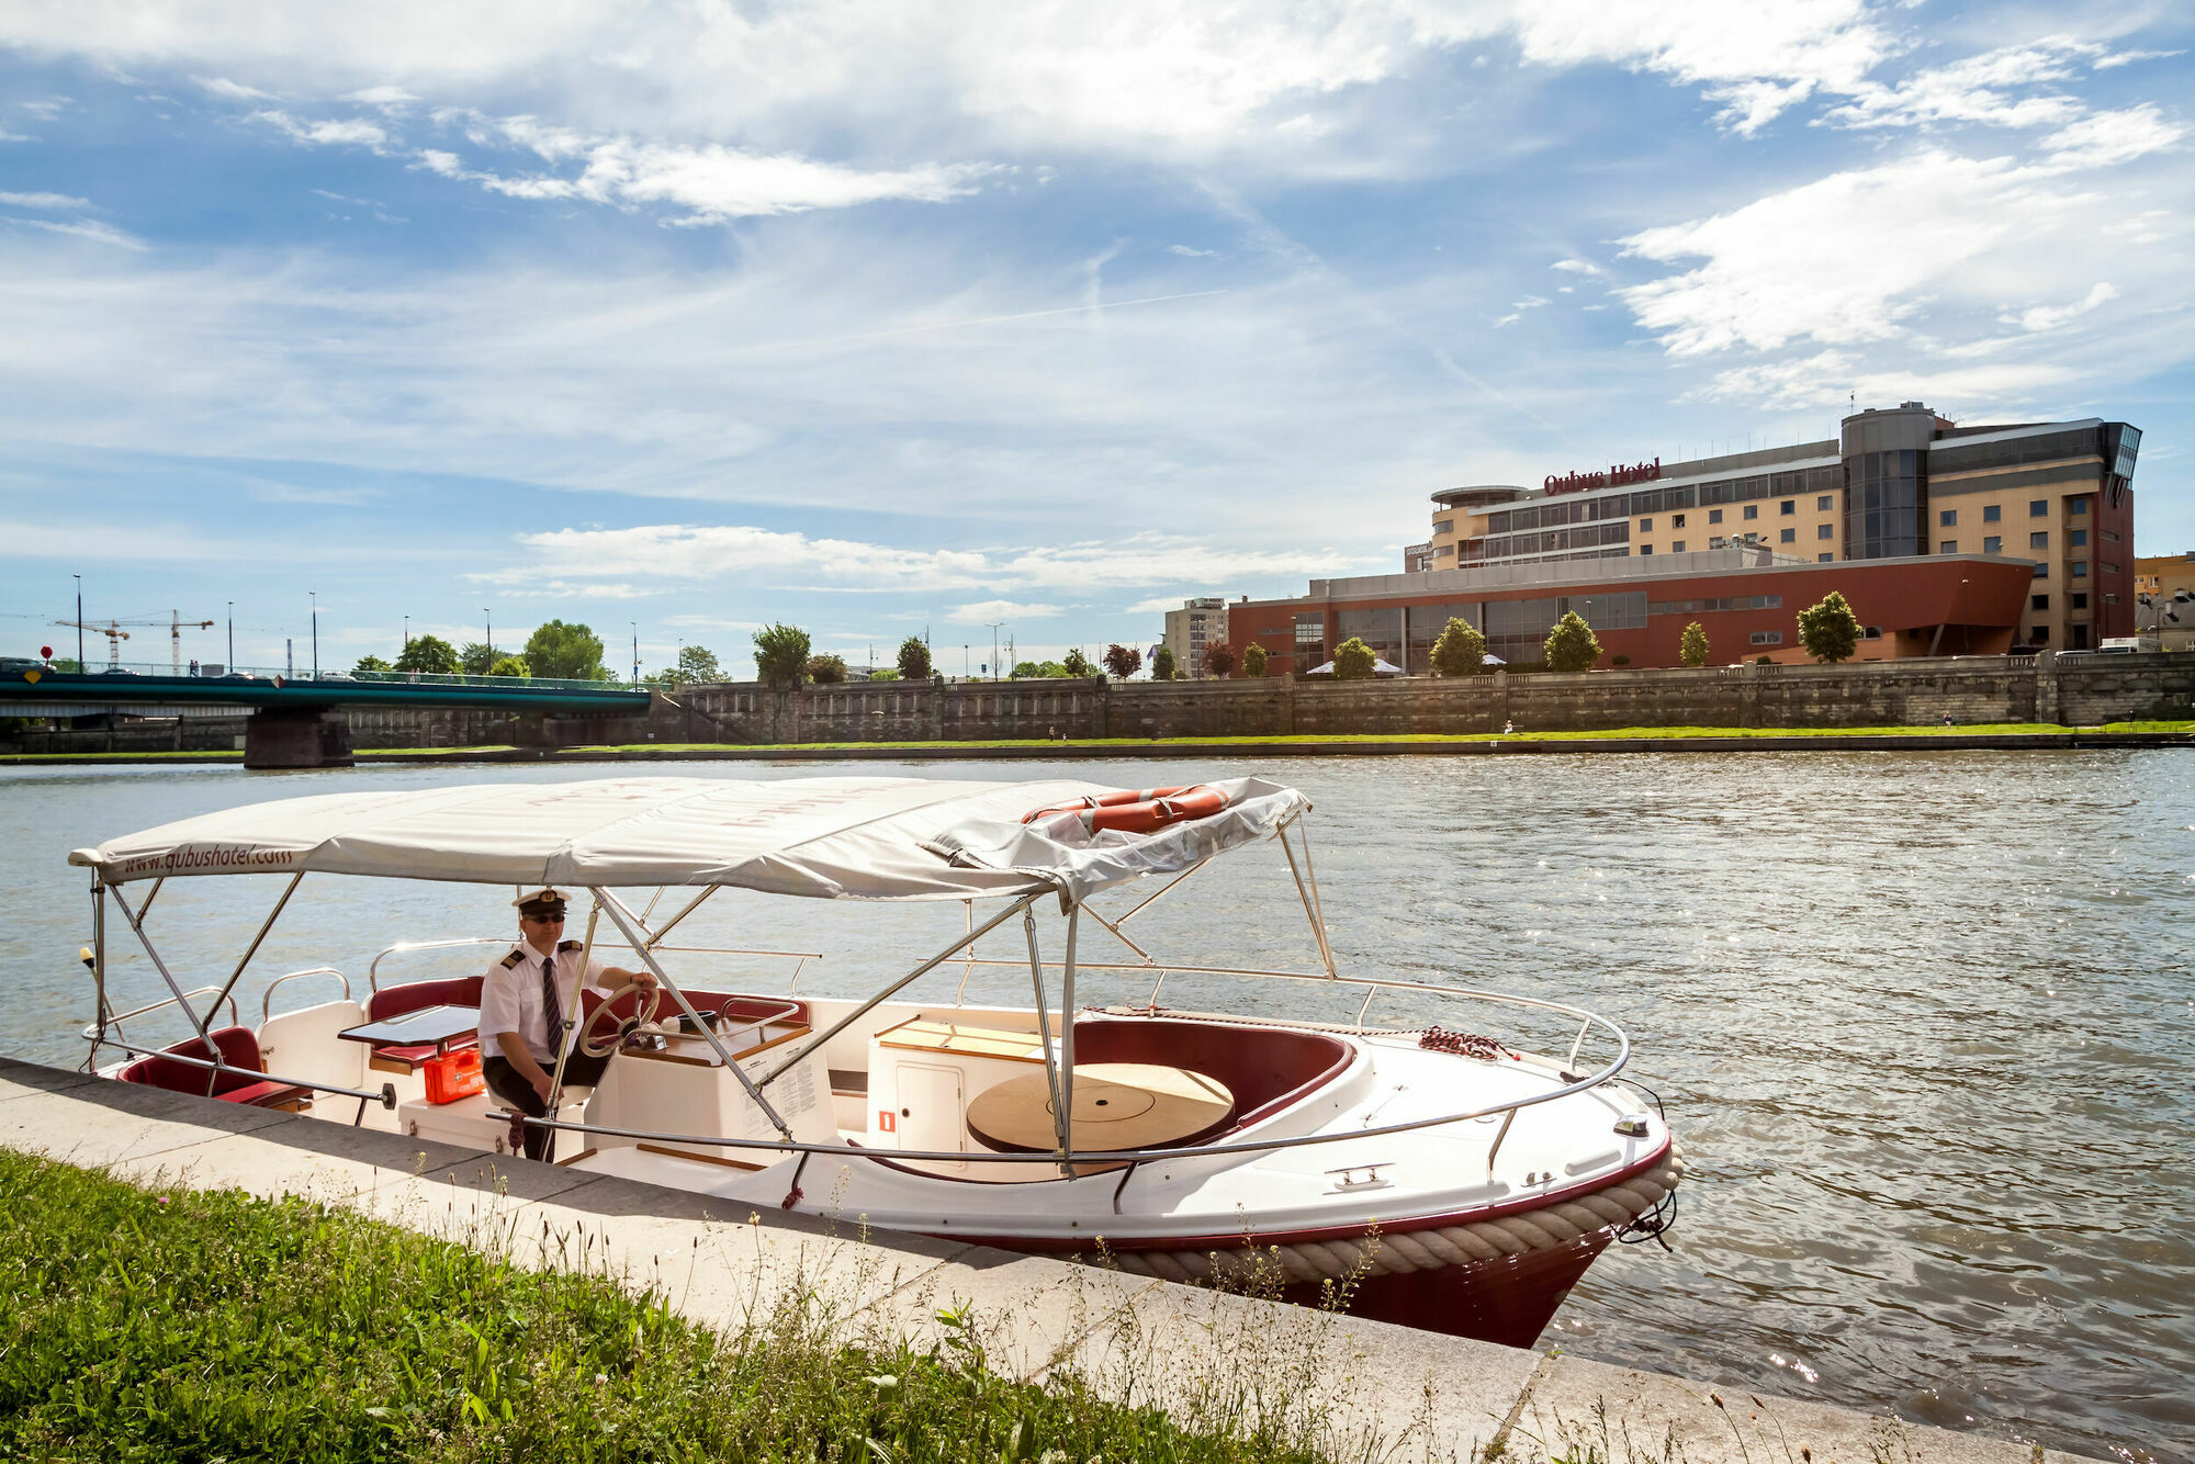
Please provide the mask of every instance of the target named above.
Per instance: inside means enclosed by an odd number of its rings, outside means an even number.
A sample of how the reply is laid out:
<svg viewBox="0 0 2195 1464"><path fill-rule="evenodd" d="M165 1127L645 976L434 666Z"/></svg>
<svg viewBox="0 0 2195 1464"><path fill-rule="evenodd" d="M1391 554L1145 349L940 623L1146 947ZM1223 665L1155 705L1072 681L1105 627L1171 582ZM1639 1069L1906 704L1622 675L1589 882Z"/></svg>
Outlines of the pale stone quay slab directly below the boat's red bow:
<svg viewBox="0 0 2195 1464"><path fill-rule="evenodd" d="M1187 1424L1269 1422L1341 1457L1473 1460L1539 1361L1488 1341L1168 1282L1108 1315L1060 1365Z"/></svg>

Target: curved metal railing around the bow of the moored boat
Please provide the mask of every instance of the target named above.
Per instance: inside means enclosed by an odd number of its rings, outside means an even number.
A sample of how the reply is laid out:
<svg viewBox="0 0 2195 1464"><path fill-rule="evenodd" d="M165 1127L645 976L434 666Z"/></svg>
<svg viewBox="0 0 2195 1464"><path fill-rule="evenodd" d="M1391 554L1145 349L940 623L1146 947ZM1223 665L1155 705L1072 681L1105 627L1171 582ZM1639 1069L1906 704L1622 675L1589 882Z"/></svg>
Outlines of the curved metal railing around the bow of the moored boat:
<svg viewBox="0 0 2195 1464"><path fill-rule="evenodd" d="M977 964L983 964L983 966L992 966L992 964L997 964L997 966L1016 966L1021 970L1027 970L1027 961L981 961L979 959ZM1043 961L1043 966L1058 966L1058 961ZM1135 972L1150 972L1152 968L1150 966L1104 966L1104 964L1084 966L1084 964L1078 964L1078 970L1135 970ZM1468 1124L1473 1119L1484 1119L1484 1117L1501 1115L1501 1128L1495 1133L1495 1137L1493 1137L1493 1141L1488 1146L1488 1152L1486 1152L1486 1172L1490 1176L1493 1174L1493 1165L1495 1165L1495 1157L1501 1152L1501 1141L1508 1137L1510 1124L1515 1122L1517 1113L1521 1113L1523 1108L1534 1108L1539 1104L1561 1102L1565 1097L1574 1097L1578 1093L1587 1093L1591 1089L1609 1084L1609 1082L1616 1080L1616 1076L1631 1060L1631 1036L1622 1027L1618 1027L1607 1016L1600 1016L1598 1012L1589 1012L1589 1010L1572 1005L1567 1001L1550 1001L1550 999L1543 999L1543 996L1517 996L1517 994L1510 994L1510 992L1488 992L1488 990L1468 988L1468 986L1442 986L1442 983L1433 983L1433 981L1396 981L1396 979L1387 979L1387 977L1328 977L1324 972L1253 970L1253 968L1218 968L1218 966L1168 966L1166 970L1170 970L1170 972L1203 972L1203 975L1240 975L1240 977L1282 979L1282 981L1319 981L1319 983L1326 983L1326 986L1361 986L1361 988L1370 988L1365 992L1365 996L1367 996L1365 1005L1370 1005L1370 999L1376 996L1381 990L1392 990L1392 992L1418 992L1418 994L1425 994L1425 996L1444 996L1444 999L1464 999L1464 1001L1488 1001L1488 1003L1497 1003L1497 1005L1532 1007L1532 1010L1539 1010L1539 1012L1550 1012L1550 1014L1556 1014L1556 1016L1565 1016L1565 1018L1578 1021L1580 1023L1580 1034L1578 1034L1578 1040L1572 1045L1572 1060L1569 1060L1569 1065L1565 1065L1556 1073L1556 1080L1558 1080L1556 1086L1547 1089L1545 1093L1530 1093L1526 1097L1515 1097L1515 1100L1499 1102L1499 1104L1484 1104L1484 1106L1477 1106L1477 1108L1464 1108L1464 1111L1457 1111L1457 1113L1440 1113L1440 1115L1433 1115L1433 1117L1405 1119L1400 1124L1378 1124L1378 1126L1370 1126L1370 1128L1348 1128L1348 1130L1337 1130L1337 1133L1262 1135L1262 1137L1251 1137L1251 1139L1234 1139L1234 1141L1225 1141L1225 1144L1194 1144L1194 1146L1177 1146L1177 1148L1135 1148L1135 1150L1108 1148L1108 1150L1065 1150L1065 1152L1062 1150L1045 1150L1045 1152L1034 1152L1034 1155L1032 1152L994 1155L994 1152L983 1152L983 1150L856 1148L856 1146L849 1146L845 1141L757 1139L757 1137L724 1137L724 1135L674 1135L674 1133L645 1130L645 1128L617 1128L617 1126L606 1126L606 1124L582 1124L582 1122L549 1119L549 1117L540 1117L540 1119L531 1119L529 1117L525 1122L533 1124L533 1126L540 1126L540 1128L553 1128L553 1130L560 1130L560 1133L569 1130L569 1133L601 1135L601 1137L615 1137L615 1139L648 1139L648 1141L658 1141L658 1144L691 1144L691 1146L705 1146L705 1148L707 1146L718 1146L718 1148L779 1150L779 1152L786 1152L786 1155L838 1155L843 1159L874 1159L874 1161L882 1161L882 1163L918 1161L918 1163L1021 1163L1021 1165L1027 1165L1027 1163L1034 1161L1034 1163L1060 1165L1062 1172L1069 1172L1073 1165L1087 1165L1087 1163L1106 1163L1106 1165L1126 1163L1128 1170L1133 1172L1137 1165L1152 1163L1152 1161L1159 1161L1159 1159L1209 1159L1209 1157L1262 1155L1262 1152L1273 1152L1273 1150L1284 1150L1284 1148L1310 1148L1310 1146L1317 1146L1317 1144L1341 1144L1341 1141L1376 1139L1376 1137L1385 1137L1385 1135L1416 1133L1420 1128L1440 1128L1444 1124ZM1361 1036L1394 1036L1394 1034L1407 1034L1407 1032L1420 1032L1422 1029L1422 1027L1400 1027L1400 1029L1378 1032L1378 1029L1363 1027L1361 1023L1357 1027L1348 1027L1348 1025L1319 1027L1317 1023L1286 1023L1286 1021L1282 1021L1282 1023L1269 1023L1267 1018L1258 1018L1258 1016L1238 1016L1238 1018L1227 1018L1227 1021L1240 1021L1240 1023L1247 1023L1247 1025L1315 1027L1315 1029L1324 1029L1324 1032L1357 1032ZM1591 1032L1596 1027L1602 1029L1616 1043L1616 1054L1607 1062L1602 1062L1600 1067L1596 1067L1594 1071L1589 1071L1589 1073L1576 1073L1576 1071L1572 1071L1572 1067L1576 1065L1576 1056L1578 1056L1578 1051L1583 1051L1587 1036L1591 1036ZM1119 1183L1122 1183L1122 1187L1126 1187L1128 1176L1124 1174ZM1117 1198L1119 1198L1119 1190L1115 1190L1115 1203L1117 1203Z"/></svg>

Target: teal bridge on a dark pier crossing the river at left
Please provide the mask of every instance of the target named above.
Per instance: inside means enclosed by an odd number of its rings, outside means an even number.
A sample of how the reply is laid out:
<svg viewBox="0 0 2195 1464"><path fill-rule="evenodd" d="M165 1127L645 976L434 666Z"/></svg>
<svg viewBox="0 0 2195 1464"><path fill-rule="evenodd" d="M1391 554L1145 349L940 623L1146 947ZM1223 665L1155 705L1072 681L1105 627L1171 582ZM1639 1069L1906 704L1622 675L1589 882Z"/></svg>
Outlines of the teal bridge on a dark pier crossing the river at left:
<svg viewBox="0 0 2195 1464"><path fill-rule="evenodd" d="M176 676L167 667L55 672L37 661L0 661L0 718L224 716L246 711L246 768L347 768L347 707L485 707L533 716L648 716L652 691L610 680L544 676L430 676L415 672L233 669Z"/></svg>

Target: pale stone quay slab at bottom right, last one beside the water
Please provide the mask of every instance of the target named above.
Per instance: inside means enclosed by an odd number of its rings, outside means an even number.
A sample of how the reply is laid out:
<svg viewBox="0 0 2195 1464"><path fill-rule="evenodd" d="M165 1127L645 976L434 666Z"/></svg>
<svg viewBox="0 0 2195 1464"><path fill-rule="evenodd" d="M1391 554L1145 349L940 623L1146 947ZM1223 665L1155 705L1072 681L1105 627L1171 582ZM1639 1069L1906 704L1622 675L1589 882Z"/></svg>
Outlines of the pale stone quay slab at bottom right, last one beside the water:
<svg viewBox="0 0 2195 1464"><path fill-rule="evenodd" d="M1826 1403L1714 1387L1558 1356L1534 1383L1506 1455L1609 1464L2033 1464L2035 1446Z"/></svg>

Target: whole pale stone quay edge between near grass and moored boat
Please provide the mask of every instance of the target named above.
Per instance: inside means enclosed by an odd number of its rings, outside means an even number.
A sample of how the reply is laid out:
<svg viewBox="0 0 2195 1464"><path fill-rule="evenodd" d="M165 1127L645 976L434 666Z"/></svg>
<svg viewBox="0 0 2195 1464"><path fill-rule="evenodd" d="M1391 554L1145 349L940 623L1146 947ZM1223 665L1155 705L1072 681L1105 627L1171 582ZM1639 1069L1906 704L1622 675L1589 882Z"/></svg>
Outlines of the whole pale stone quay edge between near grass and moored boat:
<svg viewBox="0 0 2195 1464"><path fill-rule="evenodd" d="M997 1372L1084 1372L1126 1403L1192 1414L1201 1387L1284 1367L1284 1407L1324 1409L1378 1457L1653 1455L1690 1464L2070 1462L1745 1387L1519 1352L1411 1328L1225 1297L1172 1282L924 1236L825 1225L566 1168L323 1119L239 1108L0 1058L0 1146L140 1185L305 1194L421 1234L496 1242L520 1264L586 1264L658 1286L735 1330L814 1288L849 1337L937 1339L968 1304ZM1304 1387L1295 1389L1293 1383ZM1273 1374L1264 1376L1271 1387ZM1605 1433L1607 1429L1607 1433Z"/></svg>

